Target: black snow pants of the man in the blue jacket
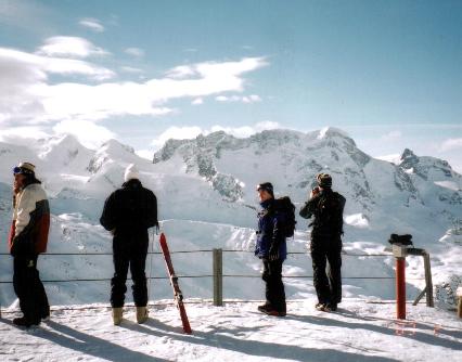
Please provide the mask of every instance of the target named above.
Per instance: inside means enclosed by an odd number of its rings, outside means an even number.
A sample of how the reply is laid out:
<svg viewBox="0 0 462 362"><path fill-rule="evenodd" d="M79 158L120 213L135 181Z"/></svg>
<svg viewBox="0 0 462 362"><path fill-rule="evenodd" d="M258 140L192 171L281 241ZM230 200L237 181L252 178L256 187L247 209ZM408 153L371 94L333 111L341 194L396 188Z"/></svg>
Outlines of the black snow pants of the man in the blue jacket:
<svg viewBox="0 0 462 362"><path fill-rule="evenodd" d="M264 274L261 279L266 283L267 303L271 305L278 312L285 312L285 292L282 283L282 260L264 261Z"/></svg>

